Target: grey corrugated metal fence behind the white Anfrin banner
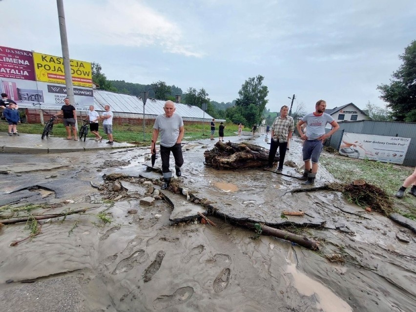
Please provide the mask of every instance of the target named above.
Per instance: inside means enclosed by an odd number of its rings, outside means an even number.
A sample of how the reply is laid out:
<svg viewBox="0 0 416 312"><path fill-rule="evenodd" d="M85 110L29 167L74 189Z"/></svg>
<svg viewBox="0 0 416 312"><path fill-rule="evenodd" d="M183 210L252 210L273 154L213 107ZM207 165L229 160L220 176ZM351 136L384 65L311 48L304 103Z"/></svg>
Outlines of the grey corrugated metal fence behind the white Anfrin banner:
<svg viewBox="0 0 416 312"><path fill-rule="evenodd" d="M330 129L327 129L327 132L329 131ZM338 150L344 132L411 138L403 165L416 166L416 123L384 122L375 120L339 123L339 130L327 140L325 145Z"/></svg>

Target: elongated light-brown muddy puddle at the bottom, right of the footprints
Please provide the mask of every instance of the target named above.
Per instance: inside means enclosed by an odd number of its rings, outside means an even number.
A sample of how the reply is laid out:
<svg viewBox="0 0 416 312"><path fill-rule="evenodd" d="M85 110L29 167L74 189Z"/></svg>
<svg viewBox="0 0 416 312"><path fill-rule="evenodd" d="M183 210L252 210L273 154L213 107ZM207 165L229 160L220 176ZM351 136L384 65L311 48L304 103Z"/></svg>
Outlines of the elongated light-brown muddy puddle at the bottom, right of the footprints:
<svg viewBox="0 0 416 312"><path fill-rule="evenodd" d="M353 309L331 290L296 269L292 249L289 251L286 261L288 262L286 272L292 275L294 281L293 286L299 293L305 296L312 296L314 294L317 300L316 309L323 312L353 312Z"/></svg>

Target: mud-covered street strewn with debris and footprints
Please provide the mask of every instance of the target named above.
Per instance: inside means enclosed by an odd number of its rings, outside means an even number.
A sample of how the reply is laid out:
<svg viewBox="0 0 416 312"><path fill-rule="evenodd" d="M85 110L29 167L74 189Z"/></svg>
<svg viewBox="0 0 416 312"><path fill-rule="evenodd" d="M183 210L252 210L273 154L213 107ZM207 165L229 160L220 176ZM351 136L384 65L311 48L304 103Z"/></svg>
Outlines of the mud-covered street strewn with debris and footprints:
<svg viewBox="0 0 416 312"><path fill-rule="evenodd" d="M264 134L226 141L248 139L269 148ZM3 153L0 205L10 209L0 217L25 215L12 208L29 204L44 205L31 214L87 210L39 220L40 233L15 246L30 235L25 223L0 229L0 310L415 311L411 229L340 192L297 191L297 139L285 159L294 165L283 175L206 167L204 151L215 143L184 141L182 194L160 190L161 174L147 169L148 148ZM104 178L111 174L124 178ZM320 167L315 186L333 181ZM216 226L202 224L198 212L212 211ZM317 240L319 250L253 238L241 221L289 229Z"/></svg>

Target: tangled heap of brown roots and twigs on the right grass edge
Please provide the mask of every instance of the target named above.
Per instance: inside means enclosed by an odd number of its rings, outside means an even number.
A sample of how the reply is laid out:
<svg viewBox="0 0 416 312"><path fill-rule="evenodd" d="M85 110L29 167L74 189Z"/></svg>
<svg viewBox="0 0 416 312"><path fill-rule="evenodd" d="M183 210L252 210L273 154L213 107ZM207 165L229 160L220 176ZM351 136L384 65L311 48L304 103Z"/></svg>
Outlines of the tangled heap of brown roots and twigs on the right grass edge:
<svg viewBox="0 0 416 312"><path fill-rule="evenodd" d="M370 207L385 216L394 212L393 200L381 188L366 183L364 180L354 180L350 184L331 183L329 189L340 191L351 202L364 208Z"/></svg>

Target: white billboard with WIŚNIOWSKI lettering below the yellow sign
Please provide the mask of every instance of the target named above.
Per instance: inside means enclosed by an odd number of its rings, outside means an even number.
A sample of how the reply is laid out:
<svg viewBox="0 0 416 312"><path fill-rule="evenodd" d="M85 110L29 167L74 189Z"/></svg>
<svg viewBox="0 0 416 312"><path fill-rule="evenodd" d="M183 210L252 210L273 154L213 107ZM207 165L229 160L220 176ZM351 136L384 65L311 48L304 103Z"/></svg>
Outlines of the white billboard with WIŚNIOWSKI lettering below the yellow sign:
<svg viewBox="0 0 416 312"><path fill-rule="evenodd" d="M66 98L65 85L56 83L0 78L0 90L21 108L61 109ZM77 110L87 111L94 105L92 88L74 87L74 100Z"/></svg>

